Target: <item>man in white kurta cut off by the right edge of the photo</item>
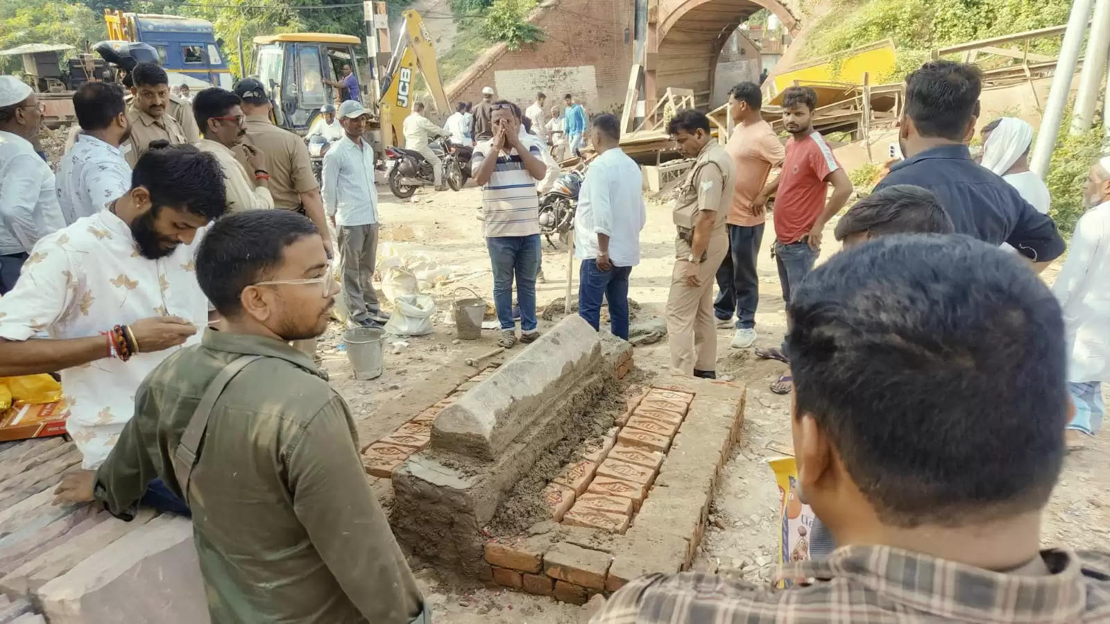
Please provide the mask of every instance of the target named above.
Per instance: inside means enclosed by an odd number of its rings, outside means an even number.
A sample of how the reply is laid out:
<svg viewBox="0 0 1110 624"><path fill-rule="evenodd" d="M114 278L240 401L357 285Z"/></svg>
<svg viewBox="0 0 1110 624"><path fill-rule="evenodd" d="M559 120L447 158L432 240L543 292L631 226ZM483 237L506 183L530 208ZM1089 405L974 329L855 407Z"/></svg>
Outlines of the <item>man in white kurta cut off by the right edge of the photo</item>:
<svg viewBox="0 0 1110 624"><path fill-rule="evenodd" d="M1068 388L1076 415L1068 447L1086 445L1102 425L1102 382L1110 381L1110 157L1091 168L1068 260L1052 285L1060 300L1070 350Z"/></svg>

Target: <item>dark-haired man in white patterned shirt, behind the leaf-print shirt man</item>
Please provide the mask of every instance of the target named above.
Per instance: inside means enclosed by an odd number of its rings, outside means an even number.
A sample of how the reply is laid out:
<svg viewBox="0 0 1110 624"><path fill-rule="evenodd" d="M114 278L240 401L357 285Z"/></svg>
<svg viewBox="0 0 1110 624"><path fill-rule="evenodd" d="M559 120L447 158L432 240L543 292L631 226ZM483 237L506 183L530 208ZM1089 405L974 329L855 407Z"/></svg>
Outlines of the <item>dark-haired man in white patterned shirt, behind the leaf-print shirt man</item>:
<svg viewBox="0 0 1110 624"><path fill-rule="evenodd" d="M73 93L81 132L58 165L58 203L65 224L104 210L131 188L131 168L120 145L131 137L123 89L85 82Z"/></svg>

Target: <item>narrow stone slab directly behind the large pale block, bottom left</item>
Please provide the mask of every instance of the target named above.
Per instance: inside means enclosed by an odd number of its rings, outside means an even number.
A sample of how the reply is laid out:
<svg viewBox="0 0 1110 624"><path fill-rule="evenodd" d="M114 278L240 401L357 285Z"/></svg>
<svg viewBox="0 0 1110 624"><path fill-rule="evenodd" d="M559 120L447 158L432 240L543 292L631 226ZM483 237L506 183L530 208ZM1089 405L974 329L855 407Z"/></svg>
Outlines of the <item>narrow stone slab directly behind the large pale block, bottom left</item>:
<svg viewBox="0 0 1110 624"><path fill-rule="evenodd" d="M114 517L89 519L84 523L93 523L92 526L82 529L0 578L0 590L13 595L32 593L153 517L152 510L139 510L131 522ZM74 530L80 527L78 525Z"/></svg>

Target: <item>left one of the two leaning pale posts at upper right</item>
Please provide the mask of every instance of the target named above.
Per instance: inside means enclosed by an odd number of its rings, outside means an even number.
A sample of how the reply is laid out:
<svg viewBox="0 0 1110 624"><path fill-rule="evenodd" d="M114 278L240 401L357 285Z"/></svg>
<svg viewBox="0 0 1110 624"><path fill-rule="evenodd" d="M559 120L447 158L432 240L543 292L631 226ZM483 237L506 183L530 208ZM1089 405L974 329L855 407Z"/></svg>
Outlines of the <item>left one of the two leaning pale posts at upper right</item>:
<svg viewBox="0 0 1110 624"><path fill-rule="evenodd" d="M1073 0L1071 16L1068 18L1068 30L1063 33L1063 44L1057 59L1056 72L1052 76L1052 88L1045 103L1045 117L1041 118L1040 130L1037 132L1037 143L1033 145L1029 169L1042 180L1048 173L1056 138L1063 120L1063 109L1068 103L1068 92L1071 91L1071 80L1076 76L1076 63L1083 46L1083 31L1091 16L1092 0Z"/></svg>

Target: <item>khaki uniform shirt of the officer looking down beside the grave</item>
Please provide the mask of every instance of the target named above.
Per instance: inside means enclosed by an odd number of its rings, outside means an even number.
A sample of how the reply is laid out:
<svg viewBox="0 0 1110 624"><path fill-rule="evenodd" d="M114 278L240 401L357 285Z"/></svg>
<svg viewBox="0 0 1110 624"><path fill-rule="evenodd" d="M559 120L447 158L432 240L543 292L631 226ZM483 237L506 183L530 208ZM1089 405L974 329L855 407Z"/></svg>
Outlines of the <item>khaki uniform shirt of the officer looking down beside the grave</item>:
<svg viewBox="0 0 1110 624"><path fill-rule="evenodd" d="M675 238L675 258L678 260L689 258L694 223L703 210L716 211L710 246L714 246L713 243L717 242L717 239L723 238L727 241L725 223L733 203L735 184L736 164L733 163L733 158L716 139L709 139L675 194L674 221L678 228L678 235Z"/></svg>

